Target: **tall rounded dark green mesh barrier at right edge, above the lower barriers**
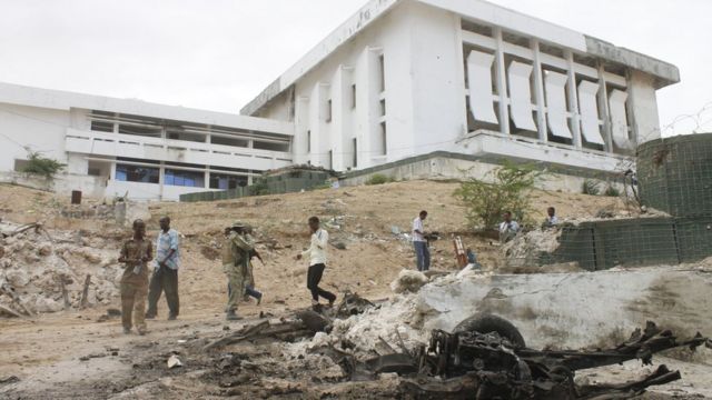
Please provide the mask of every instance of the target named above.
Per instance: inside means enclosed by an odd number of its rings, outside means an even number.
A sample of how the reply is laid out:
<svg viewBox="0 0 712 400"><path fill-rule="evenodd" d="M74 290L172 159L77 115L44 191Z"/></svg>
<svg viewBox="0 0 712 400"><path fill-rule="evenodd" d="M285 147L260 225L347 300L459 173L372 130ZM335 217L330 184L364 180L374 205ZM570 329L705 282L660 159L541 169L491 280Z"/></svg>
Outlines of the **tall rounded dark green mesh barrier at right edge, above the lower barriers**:
<svg viewBox="0 0 712 400"><path fill-rule="evenodd" d="M641 144L637 179L645 206L674 217L712 216L712 133Z"/></svg>

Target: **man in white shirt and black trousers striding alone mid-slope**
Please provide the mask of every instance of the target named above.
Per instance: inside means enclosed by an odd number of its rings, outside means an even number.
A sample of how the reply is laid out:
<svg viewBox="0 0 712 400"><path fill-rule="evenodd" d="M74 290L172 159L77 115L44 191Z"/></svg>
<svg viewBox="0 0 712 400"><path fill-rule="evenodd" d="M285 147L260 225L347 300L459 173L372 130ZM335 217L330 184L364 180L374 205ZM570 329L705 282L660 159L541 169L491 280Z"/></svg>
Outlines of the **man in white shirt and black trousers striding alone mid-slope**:
<svg viewBox="0 0 712 400"><path fill-rule="evenodd" d="M312 291L312 304L319 303L319 296L328 300L329 306L334 306L336 294L319 288L324 269L326 268L326 254L329 241L329 233L322 229L317 217L309 218L309 230L312 231L312 242L309 248L297 254L297 260L309 257L309 270L307 272L307 289Z"/></svg>

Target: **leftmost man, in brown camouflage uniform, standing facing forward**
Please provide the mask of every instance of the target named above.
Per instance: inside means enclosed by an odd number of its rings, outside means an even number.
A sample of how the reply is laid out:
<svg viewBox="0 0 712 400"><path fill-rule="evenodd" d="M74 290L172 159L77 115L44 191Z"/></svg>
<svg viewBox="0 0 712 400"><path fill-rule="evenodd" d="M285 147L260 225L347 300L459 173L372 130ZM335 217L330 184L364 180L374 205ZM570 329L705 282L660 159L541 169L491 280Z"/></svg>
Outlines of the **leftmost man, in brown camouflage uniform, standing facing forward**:
<svg viewBox="0 0 712 400"><path fill-rule="evenodd" d="M134 238L123 242L119 262L126 264L121 276L121 323L123 333L131 333L131 314L138 334L146 334L146 297L148 296L148 261L154 246L146 240L146 223L134 221Z"/></svg>

